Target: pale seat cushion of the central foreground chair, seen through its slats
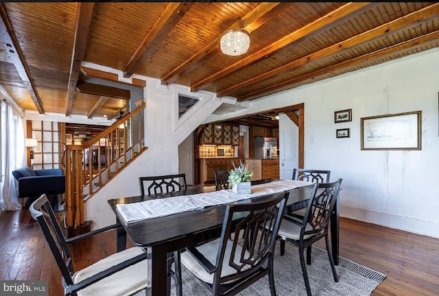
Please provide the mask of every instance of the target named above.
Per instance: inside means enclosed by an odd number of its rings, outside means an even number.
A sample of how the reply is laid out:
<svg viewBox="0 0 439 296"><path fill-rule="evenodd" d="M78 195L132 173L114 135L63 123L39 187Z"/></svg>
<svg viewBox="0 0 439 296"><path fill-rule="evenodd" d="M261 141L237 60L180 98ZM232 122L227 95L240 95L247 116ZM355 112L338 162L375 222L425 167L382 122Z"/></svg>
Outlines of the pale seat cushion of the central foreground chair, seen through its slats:
<svg viewBox="0 0 439 296"><path fill-rule="evenodd" d="M222 265L221 270L221 277L225 277L227 275L232 275L234 273L237 273L236 269L233 267L230 267L228 262L230 259L230 254L232 252L232 246L233 246L233 240L227 241L226 251L224 253L224 263ZM204 245L201 245L200 247L197 247L198 251L200 251L201 254L203 254L204 257L206 257L212 264L215 265L215 262L217 260L217 253L218 253L218 247L219 247L219 238L216 240L213 240L209 243L205 243ZM241 256L242 247L241 245L237 245L237 249L235 251L235 260L237 264L239 264L239 258ZM248 251L245 251L245 258L248 258L250 256L250 253ZM206 269L202 267L202 265L195 259L189 252L183 252L181 254L181 262L185 265L187 269L189 269L196 277L198 277L200 280L207 282L209 284L213 284L213 274L209 274ZM246 265L241 269L241 271L245 271L249 269L250 266ZM230 281L231 282L231 281Z"/></svg>

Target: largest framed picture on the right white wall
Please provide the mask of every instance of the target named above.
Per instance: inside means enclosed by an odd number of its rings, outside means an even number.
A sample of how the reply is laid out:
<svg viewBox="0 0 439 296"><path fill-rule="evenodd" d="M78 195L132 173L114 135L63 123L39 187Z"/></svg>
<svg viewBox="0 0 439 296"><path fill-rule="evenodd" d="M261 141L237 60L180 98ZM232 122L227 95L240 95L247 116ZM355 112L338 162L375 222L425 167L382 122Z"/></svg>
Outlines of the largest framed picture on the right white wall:
<svg viewBox="0 0 439 296"><path fill-rule="evenodd" d="M420 150L421 111L361 118L361 150Z"/></svg>

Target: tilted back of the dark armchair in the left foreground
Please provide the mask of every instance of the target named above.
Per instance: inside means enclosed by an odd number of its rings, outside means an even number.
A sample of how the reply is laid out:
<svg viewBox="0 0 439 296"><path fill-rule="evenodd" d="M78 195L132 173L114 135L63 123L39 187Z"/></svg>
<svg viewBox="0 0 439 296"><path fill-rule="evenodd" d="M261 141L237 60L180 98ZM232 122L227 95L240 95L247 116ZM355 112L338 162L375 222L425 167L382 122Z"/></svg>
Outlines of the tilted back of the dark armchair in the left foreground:
<svg viewBox="0 0 439 296"><path fill-rule="evenodd" d="M61 271L63 285L73 284L71 277L71 275L73 275L71 252L47 196L41 195L36 199L36 201L29 206L29 211L32 214L32 218L38 222L38 225L43 231L47 244Z"/></svg>

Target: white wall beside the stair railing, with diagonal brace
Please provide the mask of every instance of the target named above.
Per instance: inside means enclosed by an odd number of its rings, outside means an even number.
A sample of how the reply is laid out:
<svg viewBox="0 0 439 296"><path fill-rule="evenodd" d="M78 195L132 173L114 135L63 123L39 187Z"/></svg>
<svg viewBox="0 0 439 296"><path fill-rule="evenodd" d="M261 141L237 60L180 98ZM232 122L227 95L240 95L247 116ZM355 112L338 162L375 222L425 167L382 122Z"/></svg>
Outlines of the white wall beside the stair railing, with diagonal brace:
<svg viewBox="0 0 439 296"><path fill-rule="evenodd" d="M115 223L108 199L139 195L139 177L178 173L178 145L221 105L213 94L192 94L200 101L178 118L178 93L189 93L188 88L162 86L158 79L147 78L144 92L148 149L86 201L85 217L94 229Z"/></svg>

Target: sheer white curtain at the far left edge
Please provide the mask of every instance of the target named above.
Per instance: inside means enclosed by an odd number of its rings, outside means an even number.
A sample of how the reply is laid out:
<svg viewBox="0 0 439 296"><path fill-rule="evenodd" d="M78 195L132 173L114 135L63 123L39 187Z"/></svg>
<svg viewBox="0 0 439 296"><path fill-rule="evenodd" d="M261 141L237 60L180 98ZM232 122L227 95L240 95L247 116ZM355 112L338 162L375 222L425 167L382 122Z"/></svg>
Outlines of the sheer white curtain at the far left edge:
<svg viewBox="0 0 439 296"><path fill-rule="evenodd" d="M19 210L17 182L12 176L14 169L25 165L25 130L24 119L5 101L1 102L1 210Z"/></svg>

